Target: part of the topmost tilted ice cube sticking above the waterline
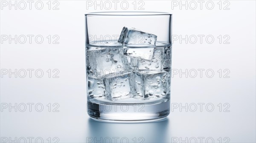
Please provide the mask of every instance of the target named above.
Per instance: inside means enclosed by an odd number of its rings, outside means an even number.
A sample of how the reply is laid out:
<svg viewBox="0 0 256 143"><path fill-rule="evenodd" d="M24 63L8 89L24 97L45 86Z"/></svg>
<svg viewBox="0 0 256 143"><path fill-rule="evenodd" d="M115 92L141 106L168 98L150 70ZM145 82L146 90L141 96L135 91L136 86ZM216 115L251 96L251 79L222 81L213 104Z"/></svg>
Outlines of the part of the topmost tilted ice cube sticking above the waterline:
<svg viewBox="0 0 256 143"><path fill-rule="evenodd" d="M154 34L146 33L139 29L123 27L118 43L126 44L136 44L138 45L155 45L157 41L157 36Z"/></svg>

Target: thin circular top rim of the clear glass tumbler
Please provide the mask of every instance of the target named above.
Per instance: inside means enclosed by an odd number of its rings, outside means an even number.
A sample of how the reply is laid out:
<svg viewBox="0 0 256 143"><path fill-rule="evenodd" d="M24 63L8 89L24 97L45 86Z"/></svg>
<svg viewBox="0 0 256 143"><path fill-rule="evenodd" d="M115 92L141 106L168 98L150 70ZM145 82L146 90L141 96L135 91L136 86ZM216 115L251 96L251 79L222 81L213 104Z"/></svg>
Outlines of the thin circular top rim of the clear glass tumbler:
<svg viewBox="0 0 256 143"><path fill-rule="evenodd" d="M85 16L157 16L172 15L167 12L151 12L151 11L108 11L108 12L90 12Z"/></svg>

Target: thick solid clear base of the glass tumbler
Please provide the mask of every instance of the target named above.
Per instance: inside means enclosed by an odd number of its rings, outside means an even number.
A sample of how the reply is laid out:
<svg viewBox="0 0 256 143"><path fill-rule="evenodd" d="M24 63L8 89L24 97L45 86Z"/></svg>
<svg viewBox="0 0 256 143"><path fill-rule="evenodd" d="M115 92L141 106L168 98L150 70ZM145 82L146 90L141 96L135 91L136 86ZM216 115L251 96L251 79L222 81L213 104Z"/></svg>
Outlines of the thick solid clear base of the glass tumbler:
<svg viewBox="0 0 256 143"><path fill-rule="evenodd" d="M170 113L170 100L157 103L95 103L87 101L87 112L105 122L151 122L164 120Z"/></svg>

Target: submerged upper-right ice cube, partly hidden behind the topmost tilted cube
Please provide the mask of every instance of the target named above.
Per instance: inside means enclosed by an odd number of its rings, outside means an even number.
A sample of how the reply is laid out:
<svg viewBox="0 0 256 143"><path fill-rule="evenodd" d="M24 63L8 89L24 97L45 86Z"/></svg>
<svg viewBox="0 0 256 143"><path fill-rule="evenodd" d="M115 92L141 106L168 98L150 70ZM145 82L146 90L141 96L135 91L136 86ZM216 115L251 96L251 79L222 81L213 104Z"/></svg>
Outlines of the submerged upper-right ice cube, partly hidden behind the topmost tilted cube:
<svg viewBox="0 0 256 143"><path fill-rule="evenodd" d="M163 70L163 48L155 48L151 61L137 59L138 70Z"/></svg>

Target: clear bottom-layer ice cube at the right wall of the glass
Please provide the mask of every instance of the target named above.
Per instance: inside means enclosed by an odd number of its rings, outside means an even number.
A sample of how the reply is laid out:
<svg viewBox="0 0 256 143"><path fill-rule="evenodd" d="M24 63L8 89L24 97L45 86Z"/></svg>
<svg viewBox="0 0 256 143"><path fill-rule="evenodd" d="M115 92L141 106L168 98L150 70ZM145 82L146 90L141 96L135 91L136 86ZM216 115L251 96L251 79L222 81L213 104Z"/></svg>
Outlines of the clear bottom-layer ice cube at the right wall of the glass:
<svg viewBox="0 0 256 143"><path fill-rule="evenodd" d="M137 97L159 98L165 97L168 89L168 72L143 71L135 73Z"/></svg>

